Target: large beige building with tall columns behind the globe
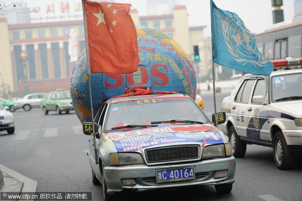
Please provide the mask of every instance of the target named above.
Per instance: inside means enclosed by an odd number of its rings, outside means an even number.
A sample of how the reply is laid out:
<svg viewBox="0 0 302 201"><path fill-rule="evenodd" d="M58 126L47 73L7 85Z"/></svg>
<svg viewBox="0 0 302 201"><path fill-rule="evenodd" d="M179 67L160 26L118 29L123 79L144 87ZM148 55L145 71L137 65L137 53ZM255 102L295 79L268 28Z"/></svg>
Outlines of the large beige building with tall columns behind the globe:
<svg viewBox="0 0 302 201"><path fill-rule="evenodd" d="M185 6L175 6L170 14L154 16L139 16L136 10L131 10L131 16L136 25L168 34L191 58L193 45L203 44L205 26L189 27ZM30 92L48 92L69 87L74 65L68 54L69 32L72 30L77 33L78 43L74 48L79 48L81 52L85 48L83 20L9 24L2 18L0 28L0 38L4 42L0 46L3 64L0 65L0 76L10 86L10 91L24 91L25 69ZM195 71L206 61L202 51L200 45L201 61L194 64ZM26 66L21 57L22 52L27 54ZM196 72L199 76L203 75L203 70Z"/></svg>

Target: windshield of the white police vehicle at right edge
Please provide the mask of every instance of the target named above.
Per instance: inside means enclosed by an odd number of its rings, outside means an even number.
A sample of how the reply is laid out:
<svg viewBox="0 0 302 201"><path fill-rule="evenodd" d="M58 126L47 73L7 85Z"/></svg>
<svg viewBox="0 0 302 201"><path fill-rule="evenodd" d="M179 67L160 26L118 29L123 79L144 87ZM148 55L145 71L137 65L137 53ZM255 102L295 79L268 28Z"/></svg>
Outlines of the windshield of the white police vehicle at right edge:
<svg viewBox="0 0 302 201"><path fill-rule="evenodd" d="M272 102L302 99L302 73L274 76L271 86Z"/></svg>

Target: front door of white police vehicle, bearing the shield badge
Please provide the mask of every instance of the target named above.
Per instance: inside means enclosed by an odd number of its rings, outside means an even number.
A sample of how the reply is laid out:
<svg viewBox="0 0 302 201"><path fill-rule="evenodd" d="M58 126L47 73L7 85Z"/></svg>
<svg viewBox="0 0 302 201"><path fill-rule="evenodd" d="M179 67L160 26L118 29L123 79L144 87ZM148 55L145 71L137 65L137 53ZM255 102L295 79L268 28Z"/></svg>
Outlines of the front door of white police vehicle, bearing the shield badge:
<svg viewBox="0 0 302 201"><path fill-rule="evenodd" d="M267 83L265 77L258 76L247 109L247 138L254 141L270 142L267 125Z"/></svg>

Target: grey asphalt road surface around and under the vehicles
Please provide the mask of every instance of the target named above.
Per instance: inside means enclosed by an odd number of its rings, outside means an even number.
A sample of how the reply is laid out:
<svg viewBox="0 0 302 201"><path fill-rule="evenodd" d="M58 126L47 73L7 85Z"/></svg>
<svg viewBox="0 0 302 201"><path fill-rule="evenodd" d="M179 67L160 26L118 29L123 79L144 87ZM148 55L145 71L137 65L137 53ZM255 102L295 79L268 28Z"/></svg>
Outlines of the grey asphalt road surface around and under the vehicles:
<svg viewBox="0 0 302 201"><path fill-rule="evenodd" d="M217 108L224 96L217 93ZM211 94L202 95L205 112L213 112ZM16 132L0 132L0 164L37 181L36 191L92 191L102 200L101 186L91 181L87 157L88 136L71 114L43 115L40 109L14 113ZM213 186L125 193L120 200L302 200L302 165L278 170L271 148L249 145L247 154L236 159L236 182L230 194L219 195Z"/></svg>

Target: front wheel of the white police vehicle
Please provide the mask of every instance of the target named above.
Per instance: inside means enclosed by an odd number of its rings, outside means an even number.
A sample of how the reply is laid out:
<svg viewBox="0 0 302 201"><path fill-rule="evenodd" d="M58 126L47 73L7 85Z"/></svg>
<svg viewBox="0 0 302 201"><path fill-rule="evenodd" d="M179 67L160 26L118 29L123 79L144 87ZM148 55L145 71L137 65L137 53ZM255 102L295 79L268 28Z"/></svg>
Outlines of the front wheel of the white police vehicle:
<svg viewBox="0 0 302 201"><path fill-rule="evenodd" d="M278 131L273 139L275 164L280 170L291 169L295 166L296 158L289 152L283 133Z"/></svg>

